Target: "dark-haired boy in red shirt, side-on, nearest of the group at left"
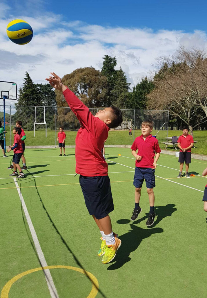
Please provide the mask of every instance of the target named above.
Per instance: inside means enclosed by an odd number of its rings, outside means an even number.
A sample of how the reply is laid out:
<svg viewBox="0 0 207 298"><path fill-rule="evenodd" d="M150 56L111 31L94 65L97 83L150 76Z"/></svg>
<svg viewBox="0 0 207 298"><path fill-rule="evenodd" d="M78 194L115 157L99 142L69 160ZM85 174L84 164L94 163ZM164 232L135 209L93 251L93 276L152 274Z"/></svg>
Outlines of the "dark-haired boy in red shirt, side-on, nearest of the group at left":
<svg viewBox="0 0 207 298"><path fill-rule="evenodd" d="M13 160L12 160L14 172L12 174L10 174L9 176L17 176L17 178L23 178L24 173L22 172L22 169L19 165L21 156L23 154L22 140L20 138L21 128L15 127L13 129L13 134L14 134L14 144L13 144L13 146L9 146L9 149L7 149L7 152L14 150L14 155L13 155ZM17 172L17 169L19 170L19 174Z"/></svg>

